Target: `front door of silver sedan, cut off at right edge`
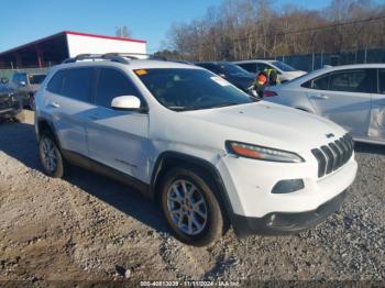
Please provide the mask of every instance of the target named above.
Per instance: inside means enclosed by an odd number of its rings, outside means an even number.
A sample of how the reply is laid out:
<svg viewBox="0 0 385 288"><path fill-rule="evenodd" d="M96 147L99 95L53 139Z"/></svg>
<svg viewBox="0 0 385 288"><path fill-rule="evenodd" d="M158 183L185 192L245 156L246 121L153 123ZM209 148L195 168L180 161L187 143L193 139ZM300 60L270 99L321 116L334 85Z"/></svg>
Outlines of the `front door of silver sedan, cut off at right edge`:
<svg viewBox="0 0 385 288"><path fill-rule="evenodd" d="M385 141L385 68L378 69L378 89L373 93L369 136Z"/></svg>

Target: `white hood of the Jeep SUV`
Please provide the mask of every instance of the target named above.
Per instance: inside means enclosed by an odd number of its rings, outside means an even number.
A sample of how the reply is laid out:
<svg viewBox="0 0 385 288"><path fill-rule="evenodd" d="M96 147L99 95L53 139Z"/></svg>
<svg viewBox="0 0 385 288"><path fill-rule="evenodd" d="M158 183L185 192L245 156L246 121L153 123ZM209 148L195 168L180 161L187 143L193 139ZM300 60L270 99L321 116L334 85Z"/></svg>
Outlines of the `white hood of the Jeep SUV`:
<svg viewBox="0 0 385 288"><path fill-rule="evenodd" d="M219 125L218 133L226 140L297 153L329 143L327 134L338 139L345 133L329 120L265 101L186 114Z"/></svg>

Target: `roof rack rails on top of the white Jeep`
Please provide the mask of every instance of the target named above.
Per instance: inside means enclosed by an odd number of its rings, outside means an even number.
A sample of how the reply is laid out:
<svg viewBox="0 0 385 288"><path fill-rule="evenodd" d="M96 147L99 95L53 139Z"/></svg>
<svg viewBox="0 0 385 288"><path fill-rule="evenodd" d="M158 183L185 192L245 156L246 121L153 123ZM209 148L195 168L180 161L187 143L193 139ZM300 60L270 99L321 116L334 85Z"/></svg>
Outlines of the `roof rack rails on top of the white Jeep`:
<svg viewBox="0 0 385 288"><path fill-rule="evenodd" d="M65 63L75 63L78 60L96 60L96 59L105 59L111 62L118 62L122 64L130 64L130 59L140 59L138 56L147 56L147 59L158 59L166 60L165 58L154 56L152 54L142 54L142 53L106 53L106 54L79 54L75 57L67 58L63 62Z"/></svg>

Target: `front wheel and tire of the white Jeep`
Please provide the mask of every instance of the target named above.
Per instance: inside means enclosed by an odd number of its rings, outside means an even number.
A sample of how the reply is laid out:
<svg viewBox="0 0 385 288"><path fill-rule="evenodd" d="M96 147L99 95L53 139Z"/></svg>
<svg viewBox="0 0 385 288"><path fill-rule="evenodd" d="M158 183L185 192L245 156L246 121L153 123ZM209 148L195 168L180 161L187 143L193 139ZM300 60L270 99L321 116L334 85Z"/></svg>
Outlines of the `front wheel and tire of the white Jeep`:
<svg viewBox="0 0 385 288"><path fill-rule="evenodd" d="M224 214L215 187L193 168L177 167L163 177L161 204L168 228L186 244L206 246L224 232Z"/></svg>

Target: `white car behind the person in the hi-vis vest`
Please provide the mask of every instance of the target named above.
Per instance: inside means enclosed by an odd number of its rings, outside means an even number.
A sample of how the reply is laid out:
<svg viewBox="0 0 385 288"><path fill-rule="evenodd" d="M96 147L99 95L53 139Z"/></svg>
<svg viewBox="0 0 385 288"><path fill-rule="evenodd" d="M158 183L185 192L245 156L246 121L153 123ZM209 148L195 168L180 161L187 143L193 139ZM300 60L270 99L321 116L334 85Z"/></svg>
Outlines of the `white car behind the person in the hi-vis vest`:
<svg viewBox="0 0 385 288"><path fill-rule="evenodd" d="M285 63L282 63L279 60L253 59L253 60L233 62L233 64L237 64L238 66L253 74L258 74L260 71L263 71L266 68L275 69L282 82L293 80L306 74L306 71L297 70L296 68Z"/></svg>

